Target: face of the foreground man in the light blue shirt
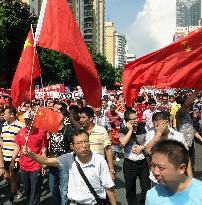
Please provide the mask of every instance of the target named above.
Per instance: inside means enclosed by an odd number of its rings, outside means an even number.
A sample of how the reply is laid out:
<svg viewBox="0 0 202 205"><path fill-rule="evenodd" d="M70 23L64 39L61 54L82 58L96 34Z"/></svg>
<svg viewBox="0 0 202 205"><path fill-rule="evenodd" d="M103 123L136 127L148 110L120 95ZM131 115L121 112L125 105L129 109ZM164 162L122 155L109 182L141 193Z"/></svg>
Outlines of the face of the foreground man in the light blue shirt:
<svg viewBox="0 0 202 205"><path fill-rule="evenodd" d="M184 174L186 165L182 164L176 168L168 157L161 153L154 153L151 161L151 171L158 181L163 186L172 186L179 179L180 175Z"/></svg>

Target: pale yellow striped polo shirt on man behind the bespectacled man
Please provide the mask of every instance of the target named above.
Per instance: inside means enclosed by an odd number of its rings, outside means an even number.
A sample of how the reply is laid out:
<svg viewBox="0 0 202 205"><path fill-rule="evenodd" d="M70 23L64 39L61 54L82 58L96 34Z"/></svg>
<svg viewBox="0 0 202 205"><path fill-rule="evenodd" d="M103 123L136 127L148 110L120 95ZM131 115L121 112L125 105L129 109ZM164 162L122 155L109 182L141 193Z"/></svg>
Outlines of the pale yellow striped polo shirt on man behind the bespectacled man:
<svg viewBox="0 0 202 205"><path fill-rule="evenodd" d="M111 145L111 141L107 130L102 126L95 125L91 130L90 136L90 150L104 156L104 148Z"/></svg>

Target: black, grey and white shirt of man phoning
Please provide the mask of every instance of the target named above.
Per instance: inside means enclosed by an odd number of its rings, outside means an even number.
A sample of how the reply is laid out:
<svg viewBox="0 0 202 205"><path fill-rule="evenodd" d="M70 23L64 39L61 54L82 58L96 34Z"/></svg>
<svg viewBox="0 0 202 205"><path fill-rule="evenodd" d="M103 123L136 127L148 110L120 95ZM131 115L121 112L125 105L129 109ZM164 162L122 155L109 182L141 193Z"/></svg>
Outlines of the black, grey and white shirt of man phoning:
<svg viewBox="0 0 202 205"><path fill-rule="evenodd" d="M128 129L124 126L121 126L120 133L119 133L119 138L125 137L127 134ZM133 153L133 147L135 145L140 145L144 144L145 142L145 129L144 127L139 126L136 132L132 133L132 136L130 137L128 143L124 146L124 157L127 159L130 159L132 161L138 161L144 159L143 153L140 154L135 154ZM135 139L136 138L136 139ZM138 144L137 144L138 142Z"/></svg>

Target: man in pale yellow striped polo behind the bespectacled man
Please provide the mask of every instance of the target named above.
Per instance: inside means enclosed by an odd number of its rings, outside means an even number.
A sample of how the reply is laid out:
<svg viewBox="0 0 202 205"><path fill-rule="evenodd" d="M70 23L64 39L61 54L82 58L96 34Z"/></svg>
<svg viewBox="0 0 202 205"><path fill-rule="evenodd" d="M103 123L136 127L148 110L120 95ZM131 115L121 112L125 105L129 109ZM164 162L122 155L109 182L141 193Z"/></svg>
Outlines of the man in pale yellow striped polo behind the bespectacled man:
<svg viewBox="0 0 202 205"><path fill-rule="evenodd" d="M84 107L80 109L80 123L89 133L90 149L103 157L106 156L111 177L115 180L113 155L109 135L104 127L93 123L93 117L94 111L92 108Z"/></svg>

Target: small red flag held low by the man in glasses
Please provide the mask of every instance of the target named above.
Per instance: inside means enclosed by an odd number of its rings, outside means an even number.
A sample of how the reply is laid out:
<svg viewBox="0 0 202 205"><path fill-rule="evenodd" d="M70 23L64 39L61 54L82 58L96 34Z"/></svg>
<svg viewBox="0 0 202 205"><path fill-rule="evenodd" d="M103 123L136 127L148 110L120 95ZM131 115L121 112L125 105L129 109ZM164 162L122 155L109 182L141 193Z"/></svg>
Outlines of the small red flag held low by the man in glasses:
<svg viewBox="0 0 202 205"><path fill-rule="evenodd" d="M39 107L34 118L33 127L57 133L63 115L50 109Z"/></svg>

